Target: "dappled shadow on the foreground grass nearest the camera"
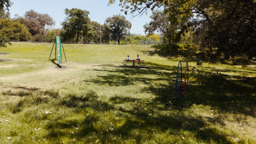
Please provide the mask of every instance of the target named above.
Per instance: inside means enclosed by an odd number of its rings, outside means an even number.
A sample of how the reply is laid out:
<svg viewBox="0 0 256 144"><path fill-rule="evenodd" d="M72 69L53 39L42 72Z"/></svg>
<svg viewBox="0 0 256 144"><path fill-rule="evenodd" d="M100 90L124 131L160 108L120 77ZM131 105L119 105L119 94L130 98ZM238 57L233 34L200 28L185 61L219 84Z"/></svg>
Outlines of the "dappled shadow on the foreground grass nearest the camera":
<svg viewBox="0 0 256 144"><path fill-rule="evenodd" d="M86 94L87 95L87 94ZM73 98L76 97L76 98ZM196 134L196 139L203 141L215 141L232 143L228 137L223 135L220 131L214 129L208 129L205 120L201 116L190 117L187 116L183 111L172 113L172 115L162 114L159 106L156 104L147 104L136 98L123 98L115 97L110 98L114 104L125 104L137 101L137 107L126 110L122 107L114 109L113 106L104 105L105 112L111 112L112 110L118 111L113 116L115 119L109 119L108 116L103 115L102 107L95 104L84 104L87 102L93 103L96 101L96 95L81 97L74 95L67 102L60 103L60 105L66 105L67 107L76 107L77 109L94 110L93 113L84 115L84 119L81 120L68 120L68 121L54 121L46 125L46 128L50 130L50 133L46 136L47 139L55 139L56 137L67 136L74 138L75 140L86 139L86 142L95 142L100 140L101 143L122 143L125 140L133 139L135 143L143 143L145 140L150 140L156 132L157 133L170 133L181 137L179 133L181 131L191 131ZM90 100L91 99L91 100ZM80 102L78 102L78 100ZM79 104L81 103L81 104ZM144 105L144 108L141 106ZM146 106L148 106L146 108ZM110 108L109 108L110 107ZM155 111L159 111L155 112ZM79 112L78 112L79 113ZM152 114L151 114L152 113ZM110 115L108 113L108 115ZM113 122L113 124L112 124ZM115 125L114 122L120 123L121 125ZM75 130L78 127L78 130ZM205 130L208 131L205 131ZM70 131L74 131L73 134L69 134ZM139 133L135 133L139 131ZM205 131L205 133L203 133ZM119 137L118 139L113 139Z"/></svg>

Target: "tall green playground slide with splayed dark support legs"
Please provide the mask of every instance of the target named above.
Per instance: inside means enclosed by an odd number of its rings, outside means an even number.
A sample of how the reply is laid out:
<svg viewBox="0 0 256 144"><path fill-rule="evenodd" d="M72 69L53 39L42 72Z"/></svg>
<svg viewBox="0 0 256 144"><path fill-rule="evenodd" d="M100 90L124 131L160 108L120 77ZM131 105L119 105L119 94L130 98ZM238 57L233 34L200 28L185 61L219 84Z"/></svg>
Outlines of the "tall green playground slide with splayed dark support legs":
<svg viewBox="0 0 256 144"><path fill-rule="evenodd" d="M57 30L56 30L56 35L57 35ZM66 61L67 61L67 58L66 58L66 55L65 55L64 47L63 47L60 36L56 36L56 39L54 40L54 45L55 45L55 59L56 59L56 56L57 56L57 61L58 61L57 65L58 65L59 68L62 68L61 46L62 46L62 50L63 50ZM54 48L54 45L53 45L53 48ZM53 49L51 49L51 53L52 52L53 52ZM50 54L49 60L50 60L50 58L51 58L51 54Z"/></svg>

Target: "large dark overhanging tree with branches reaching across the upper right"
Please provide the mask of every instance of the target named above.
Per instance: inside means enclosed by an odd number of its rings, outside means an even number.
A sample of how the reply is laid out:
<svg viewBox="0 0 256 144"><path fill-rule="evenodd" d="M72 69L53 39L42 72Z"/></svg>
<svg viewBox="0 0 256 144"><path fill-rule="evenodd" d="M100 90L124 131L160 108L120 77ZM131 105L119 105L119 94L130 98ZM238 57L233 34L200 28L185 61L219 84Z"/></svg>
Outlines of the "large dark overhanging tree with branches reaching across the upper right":
<svg viewBox="0 0 256 144"><path fill-rule="evenodd" d="M110 4L114 2L109 0ZM195 29L201 50L210 49L210 53L205 51L207 57L254 56L254 0L122 0L120 5L126 14L130 11L135 15L164 8L169 21Z"/></svg>

